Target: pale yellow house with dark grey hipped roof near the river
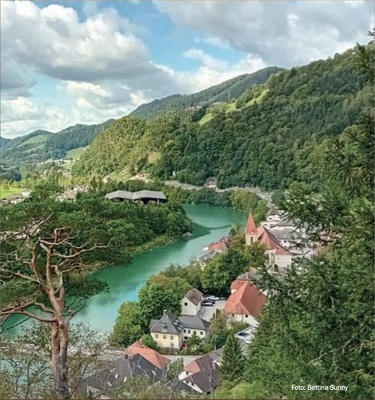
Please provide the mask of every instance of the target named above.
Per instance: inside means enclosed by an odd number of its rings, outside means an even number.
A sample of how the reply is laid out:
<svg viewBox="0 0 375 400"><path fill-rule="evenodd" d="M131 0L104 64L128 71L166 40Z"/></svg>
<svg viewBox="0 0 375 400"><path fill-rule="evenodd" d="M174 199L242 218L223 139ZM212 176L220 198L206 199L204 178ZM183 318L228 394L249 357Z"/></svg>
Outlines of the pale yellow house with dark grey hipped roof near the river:
<svg viewBox="0 0 375 400"><path fill-rule="evenodd" d="M180 349L183 343L183 326L170 312L164 311L159 320L151 320L150 334L159 347Z"/></svg>

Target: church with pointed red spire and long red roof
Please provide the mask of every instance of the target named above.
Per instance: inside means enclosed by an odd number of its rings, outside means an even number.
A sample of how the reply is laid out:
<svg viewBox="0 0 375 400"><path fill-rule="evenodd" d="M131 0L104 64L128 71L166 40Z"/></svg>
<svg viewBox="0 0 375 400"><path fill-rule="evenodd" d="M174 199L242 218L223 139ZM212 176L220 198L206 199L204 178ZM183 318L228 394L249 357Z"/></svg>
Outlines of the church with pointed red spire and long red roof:
<svg viewBox="0 0 375 400"><path fill-rule="evenodd" d="M267 254L267 266L273 272L282 272L292 263L292 254L284 248L263 225L256 226L252 214L249 215L246 229L246 245L260 243L265 247Z"/></svg>

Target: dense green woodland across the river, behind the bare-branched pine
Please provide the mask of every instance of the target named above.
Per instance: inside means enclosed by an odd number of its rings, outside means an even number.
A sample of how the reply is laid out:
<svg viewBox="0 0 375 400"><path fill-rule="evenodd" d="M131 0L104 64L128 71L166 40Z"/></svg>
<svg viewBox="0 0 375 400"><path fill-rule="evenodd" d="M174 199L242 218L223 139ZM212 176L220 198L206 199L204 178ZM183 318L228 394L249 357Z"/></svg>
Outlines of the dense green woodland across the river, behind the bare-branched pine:
<svg viewBox="0 0 375 400"><path fill-rule="evenodd" d="M50 179L35 187L29 199L4 207L2 232L22 231L27 224L35 225L35 221L46 218L48 223L38 232L39 236L53 231L53 227L64 226L75 232L74 243L85 243L86 246L106 244L105 248L98 248L86 257L91 266L98 267L128 265L135 252L144 249L144 246L168 243L191 230L185 211L176 203L150 203L146 206L130 201L116 203L104 199L99 192L80 193L74 202L61 202L54 198L61 190L56 181ZM3 263L6 263L6 257L12 256L14 246L20 245L17 240L11 239L6 241L1 237ZM23 273L28 271L28 267L18 261L11 263L11 269ZM82 285L86 272L77 271L77 276L73 274ZM1 307L14 300L24 301L36 290L28 281L21 284L2 273L1 281ZM67 294L71 294L70 290Z"/></svg>

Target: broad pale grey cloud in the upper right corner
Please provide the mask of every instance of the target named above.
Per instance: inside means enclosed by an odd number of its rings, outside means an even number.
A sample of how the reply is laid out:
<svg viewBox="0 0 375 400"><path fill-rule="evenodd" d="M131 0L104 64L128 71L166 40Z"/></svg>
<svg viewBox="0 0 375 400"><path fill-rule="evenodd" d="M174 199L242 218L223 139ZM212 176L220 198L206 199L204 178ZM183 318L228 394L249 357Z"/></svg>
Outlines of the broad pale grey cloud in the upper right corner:
<svg viewBox="0 0 375 400"><path fill-rule="evenodd" d="M326 58L372 28L372 2L217 1L155 2L175 24L203 41L258 56L268 65L293 66ZM292 18L291 18L292 16Z"/></svg>

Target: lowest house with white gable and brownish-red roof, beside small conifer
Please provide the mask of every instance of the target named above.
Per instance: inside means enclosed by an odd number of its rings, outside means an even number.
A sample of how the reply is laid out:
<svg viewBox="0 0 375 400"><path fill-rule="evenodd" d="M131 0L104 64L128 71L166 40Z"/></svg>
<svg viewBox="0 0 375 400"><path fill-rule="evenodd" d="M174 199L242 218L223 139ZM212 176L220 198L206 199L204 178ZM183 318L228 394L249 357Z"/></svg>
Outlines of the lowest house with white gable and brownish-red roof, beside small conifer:
<svg viewBox="0 0 375 400"><path fill-rule="evenodd" d="M215 352L208 353L188 364L178 378L200 394L209 394L220 383L220 364Z"/></svg>

